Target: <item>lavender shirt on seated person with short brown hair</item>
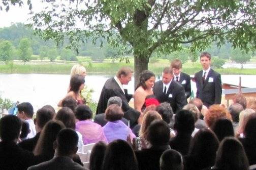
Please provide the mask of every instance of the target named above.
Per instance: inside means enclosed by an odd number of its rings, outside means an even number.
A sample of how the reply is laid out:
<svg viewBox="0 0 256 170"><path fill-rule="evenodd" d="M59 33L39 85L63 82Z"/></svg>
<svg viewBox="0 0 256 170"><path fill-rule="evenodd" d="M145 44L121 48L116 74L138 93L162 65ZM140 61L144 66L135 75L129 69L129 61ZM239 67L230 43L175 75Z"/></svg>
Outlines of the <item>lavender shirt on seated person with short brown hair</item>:
<svg viewBox="0 0 256 170"><path fill-rule="evenodd" d="M130 137L131 141L133 141L133 138L135 138L132 130L121 120L108 121L107 124L103 126L103 130L108 143L116 139L127 141L127 137Z"/></svg>

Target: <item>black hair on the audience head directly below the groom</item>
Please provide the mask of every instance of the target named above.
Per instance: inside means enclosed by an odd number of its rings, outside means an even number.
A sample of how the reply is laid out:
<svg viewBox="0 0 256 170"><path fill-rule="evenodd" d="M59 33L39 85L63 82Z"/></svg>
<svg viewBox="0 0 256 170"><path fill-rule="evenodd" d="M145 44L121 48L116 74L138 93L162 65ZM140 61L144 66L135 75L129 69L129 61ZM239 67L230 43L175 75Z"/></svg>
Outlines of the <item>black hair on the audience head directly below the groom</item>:
<svg viewBox="0 0 256 170"><path fill-rule="evenodd" d="M177 133L193 133L195 130L195 116L188 110L180 110L175 115L174 130Z"/></svg>

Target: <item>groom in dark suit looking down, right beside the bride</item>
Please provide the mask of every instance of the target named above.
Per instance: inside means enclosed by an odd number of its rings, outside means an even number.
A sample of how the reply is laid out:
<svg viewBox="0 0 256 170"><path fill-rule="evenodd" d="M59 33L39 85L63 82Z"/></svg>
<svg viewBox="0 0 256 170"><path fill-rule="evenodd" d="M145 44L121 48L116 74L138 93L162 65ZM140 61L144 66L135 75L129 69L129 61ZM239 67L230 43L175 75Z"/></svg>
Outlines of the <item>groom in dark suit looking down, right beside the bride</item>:
<svg viewBox="0 0 256 170"><path fill-rule="evenodd" d="M160 102L168 102L176 113L187 104L185 90L180 83L173 80L173 71L171 68L165 68L162 73L163 80L154 84L153 92L156 99Z"/></svg>

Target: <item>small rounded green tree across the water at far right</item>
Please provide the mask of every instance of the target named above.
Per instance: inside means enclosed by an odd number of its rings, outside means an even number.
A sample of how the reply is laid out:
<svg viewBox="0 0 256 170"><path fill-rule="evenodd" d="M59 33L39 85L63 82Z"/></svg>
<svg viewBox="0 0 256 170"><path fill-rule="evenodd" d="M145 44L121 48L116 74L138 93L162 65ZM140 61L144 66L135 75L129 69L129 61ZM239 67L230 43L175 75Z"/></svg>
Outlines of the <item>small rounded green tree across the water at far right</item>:
<svg viewBox="0 0 256 170"><path fill-rule="evenodd" d="M251 54L241 51L239 49L232 50L231 52L231 60L236 63L241 64L241 68L243 68L243 64L247 61L250 61Z"/></svg>

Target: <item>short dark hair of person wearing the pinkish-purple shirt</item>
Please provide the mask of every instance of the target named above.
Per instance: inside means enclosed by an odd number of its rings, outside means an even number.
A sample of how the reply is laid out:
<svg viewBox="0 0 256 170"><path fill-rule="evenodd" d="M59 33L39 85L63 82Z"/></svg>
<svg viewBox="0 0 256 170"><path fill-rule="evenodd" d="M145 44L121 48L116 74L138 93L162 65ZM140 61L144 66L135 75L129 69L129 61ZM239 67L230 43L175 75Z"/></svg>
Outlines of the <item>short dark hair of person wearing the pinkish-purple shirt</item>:
<svg viewBox="0 0 256 170"><path fill-rule="evenodd" d="M87 120L92 118L92 111L87 105L79 105L76 108L75 116L78 120Z"/></svg>

